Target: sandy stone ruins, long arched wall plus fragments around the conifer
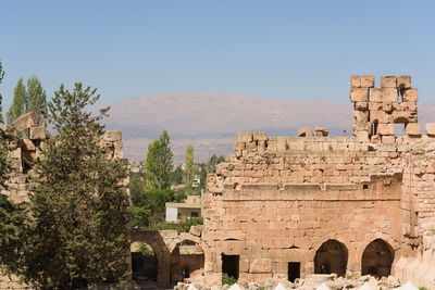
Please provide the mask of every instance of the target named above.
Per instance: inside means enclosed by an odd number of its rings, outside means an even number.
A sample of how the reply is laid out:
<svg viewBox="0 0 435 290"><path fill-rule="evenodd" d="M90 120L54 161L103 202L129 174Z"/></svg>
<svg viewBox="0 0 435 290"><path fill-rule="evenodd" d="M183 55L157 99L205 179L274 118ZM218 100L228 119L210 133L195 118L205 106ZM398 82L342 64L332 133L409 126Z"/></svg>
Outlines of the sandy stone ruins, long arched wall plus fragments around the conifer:
<svg viewBox="0 0 435 290"><path fill-rule="evenodd" d="M381 77L380 88L374 76L350 80L351 137L324 128L237 134L234 154L208 177L204 225L133 229L132 243L154 253L152 269L134 253L133 270L152 273L161 287L184 278L220 285L223 274L243 283L336 273L435 288L435 124L418 123L410 76ZM108 134L122 155L121 135ZM38 154L26 142L11 156ZM9 194L25 194L26 174Z"/></svg>

